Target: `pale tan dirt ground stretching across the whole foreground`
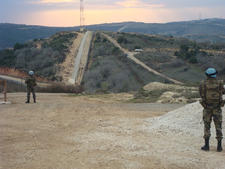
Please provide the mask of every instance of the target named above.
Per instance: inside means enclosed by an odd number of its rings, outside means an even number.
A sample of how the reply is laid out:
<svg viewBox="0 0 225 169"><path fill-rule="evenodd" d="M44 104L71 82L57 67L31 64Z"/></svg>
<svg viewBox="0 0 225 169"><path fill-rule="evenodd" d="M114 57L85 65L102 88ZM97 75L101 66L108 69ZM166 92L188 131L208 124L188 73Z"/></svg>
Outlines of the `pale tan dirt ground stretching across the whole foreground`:
<svg viewBox="0 0 225 169"><path fill-rule="evenodd" d="M200 150L201 134L180 120L185 111L166 114L181 105L122 103L129 98L38 94L37 104L25 104L25 93L9 94L13 104L0 105L0 168L225 168L225 152Z"/></svg>

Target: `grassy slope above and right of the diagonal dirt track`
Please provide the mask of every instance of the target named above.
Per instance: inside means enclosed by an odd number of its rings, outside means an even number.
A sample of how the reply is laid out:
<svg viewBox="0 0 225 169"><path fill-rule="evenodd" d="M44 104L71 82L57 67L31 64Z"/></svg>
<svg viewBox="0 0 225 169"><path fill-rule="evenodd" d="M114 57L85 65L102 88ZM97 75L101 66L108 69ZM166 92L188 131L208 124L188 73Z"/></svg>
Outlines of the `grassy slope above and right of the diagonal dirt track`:
<svg viewBox="0 0 225 169"><path fill-rule="evenodd" d="M153 69L186 83L197 83L203 79L207 67L215 67L219 72L225 70L225 66L221 64L224 63L225 45L214 46L168 36L109 32L108 34L130 51L134 51L135 48L143 49L144 52L136 55L138 59ZM175 56L175 52L180 50L182 44L189 46L190 49L193 46L199 48L195 56L198 63L193 64L189 60ZM224 74L221 73L220 77L224 78Z"/></svg>

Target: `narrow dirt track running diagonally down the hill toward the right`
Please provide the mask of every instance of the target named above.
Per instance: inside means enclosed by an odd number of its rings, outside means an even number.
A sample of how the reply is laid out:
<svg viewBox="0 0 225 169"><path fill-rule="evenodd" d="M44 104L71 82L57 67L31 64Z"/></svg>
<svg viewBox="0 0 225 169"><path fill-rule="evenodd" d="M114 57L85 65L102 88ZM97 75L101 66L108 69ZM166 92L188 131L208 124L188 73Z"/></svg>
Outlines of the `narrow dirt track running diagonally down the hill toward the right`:
<svg viewBox="0 0 225 169"><path fill-rule="evenodd" d="M142 61L140 61L139 59L137 59L134 55L137 54L136 52L130 52L128 51L127 49L124 49L115 39L113 39L112 37L110 37L109 35L105 34L105 33L102 33L103 36L105 36L111 43L113 43L116 47L118 47L121 51L123 51L127 57L131 60L133 60L136 64L142 66L144 69L148 70L149 72L155 74L155 75L158 75L160 77L163 77L175 84L183 84L182 82L180 81L177 81L175 79L172 79L162 73L159 73L157 72L156 70L150 68L149 66L147 66L145 63L143 63Z"/></svg>

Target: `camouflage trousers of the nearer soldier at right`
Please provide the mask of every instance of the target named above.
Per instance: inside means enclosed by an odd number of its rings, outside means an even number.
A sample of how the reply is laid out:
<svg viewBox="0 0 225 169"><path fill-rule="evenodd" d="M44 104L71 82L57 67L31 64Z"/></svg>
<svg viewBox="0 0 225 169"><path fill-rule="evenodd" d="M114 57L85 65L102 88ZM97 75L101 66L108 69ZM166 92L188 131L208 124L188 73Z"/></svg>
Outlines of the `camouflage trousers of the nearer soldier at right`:
<svg viewBox="0 0 225 169"><path fill-rule="evenodd" d="M212 119L216 128L216 139L222 140L222 110L218 108L205 108L203 111L203 121L204 121L204 138L210 138L210 128Z"/></svg>

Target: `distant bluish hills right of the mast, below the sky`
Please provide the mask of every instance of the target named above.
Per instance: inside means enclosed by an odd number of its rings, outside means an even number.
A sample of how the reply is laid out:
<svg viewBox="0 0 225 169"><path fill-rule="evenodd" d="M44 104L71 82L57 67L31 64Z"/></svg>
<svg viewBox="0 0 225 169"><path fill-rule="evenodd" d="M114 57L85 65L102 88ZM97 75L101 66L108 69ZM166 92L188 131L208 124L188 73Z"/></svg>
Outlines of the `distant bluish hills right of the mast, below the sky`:
<svg viewBox="0 0 225 169"><path fill-rule="evenodd" d="M185 22L170 22L165 24L124 22L90 25L87 28L91 30L119 31L127 33L136 32L185 37L198 42L225 42L225 19L204 19Z"/></svg>

